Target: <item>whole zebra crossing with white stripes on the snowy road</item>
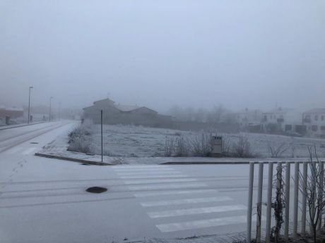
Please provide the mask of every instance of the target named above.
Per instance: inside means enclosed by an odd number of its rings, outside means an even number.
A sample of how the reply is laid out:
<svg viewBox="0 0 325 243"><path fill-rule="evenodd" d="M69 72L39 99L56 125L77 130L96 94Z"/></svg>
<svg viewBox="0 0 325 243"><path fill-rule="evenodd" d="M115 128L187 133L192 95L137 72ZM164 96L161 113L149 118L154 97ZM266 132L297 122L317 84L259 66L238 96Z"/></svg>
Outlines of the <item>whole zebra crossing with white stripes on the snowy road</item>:
<svg viewBox="0 0 325 243"><path fill-rule="evenodd" d="M172 166L117 166L113 170L162 233L238 224L244 229L247 206Z"/></svg>

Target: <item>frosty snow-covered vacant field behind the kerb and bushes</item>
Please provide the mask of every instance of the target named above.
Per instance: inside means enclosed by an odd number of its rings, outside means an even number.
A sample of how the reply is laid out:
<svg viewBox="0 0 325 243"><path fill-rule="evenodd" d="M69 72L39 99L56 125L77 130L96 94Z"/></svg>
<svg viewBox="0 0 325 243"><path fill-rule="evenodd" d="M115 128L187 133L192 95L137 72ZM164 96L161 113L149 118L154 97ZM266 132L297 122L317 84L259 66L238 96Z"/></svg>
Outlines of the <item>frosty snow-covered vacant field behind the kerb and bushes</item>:
<svg viewBox="0 0 325 243"><path fill-rule="evenodd" d="M91 125L91 150L100 154L100 125ZM162 157L165 154L165 142L170 137L198 137L202 132L186 132L162 128L132 125L103 126L104 154L115 157ZM215 134L213 134L215 135ZM252 153L256 157L271 157L269 147L283 151L279 158L308 157L308 147L316 146L319 157L325 157L325 139L286 137L262 134L218 134L223 136L230 147L238 142L242 135L249 141Z"/></svg>

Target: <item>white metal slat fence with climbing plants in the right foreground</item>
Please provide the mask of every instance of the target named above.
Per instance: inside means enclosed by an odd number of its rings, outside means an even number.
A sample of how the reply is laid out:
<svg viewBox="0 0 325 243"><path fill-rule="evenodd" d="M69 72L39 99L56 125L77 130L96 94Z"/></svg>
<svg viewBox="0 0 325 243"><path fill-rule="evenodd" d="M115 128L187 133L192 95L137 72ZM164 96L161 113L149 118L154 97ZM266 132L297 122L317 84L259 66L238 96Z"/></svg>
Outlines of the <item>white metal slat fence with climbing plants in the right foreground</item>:
<svg viewBox="0 0 325 243"><path fill-rule="evenodd" d="M317 165L316 165L317 163ZM256 164L256 165L255 165ZM273 167L276 164L276 179L273 177ZM284 194L284 218L283 218L283 237L288 239L289 235L293 238L297 237L297 234L301 235L306 234L306 223L311 222L310 213L308 217L307 213L307 192L304 190L307 188L307 183L310 183L309 180L312 180L312 185L316 185L314 182L316 177L315 171L312 168L319 168L321 172L320 184L318 182L318 187L321 187L319 192L322 193L323 181L324 181L324 162L268 162L265 163L265 166L268 166L268 185L266 192L266 202L265 204L262 201L263 198L263 179L264 179L264 162L250 162L249 163L249 192L248 192L248 209L247 209L247 242L251 242L252 240L252 217L254 217L256 213L256 242L261 242L261 224L264 223L266 225L265 228L265 241L266 243L270 242L271 238L271 228L272 223L272 208L274 207L273 201L273 193L274 191L280 187L280 177L283 177L283 194ZM290 174L291 167L294 166L294 174ZM310 166L310 170L308 170L308 166ZM254 168L258 167L258 180L257 180L257 195L253 195L254 190ZM283 175L283 170L285 170L285 175ZM290 179L293 179L293 194L290 194ZM308 180L308 181L307 181ZM273 183L274 182L274 183ZM314 183L314 184L313 184ZM291 196L290 196L291 195ZM321 195L322 196L322 195ZM253 205L253 198L256 197L256 207ZM293 197L293 198L290 198ZM300 197L300 198L299 198ZM300 201L299 201L300 199ZM323 197L321 197L323 199ZM293 200L290 204L290 200ZM253 211L254 206L254 211ZM266 206L266 217L262 217L262 206ZM293 206L293 210L290 211L290 206ZM298 218L298 208L301 210L301 218ZM265 208L264 208L265 209ZM255 211L256 210L256 211ZM291 213L291 215L290 215ZM293 215L292 215L293 214ZM266 222L262 222L262 218L266 219ZM293 218L293 228L289 229L290 218ZM298 232L298 221L300 223L300 232ZM321 228L321 213L318 218L318 228ZM312 228L310 228L310 233L312 233ZM312 235L312 234L311 234Z"/></svg>

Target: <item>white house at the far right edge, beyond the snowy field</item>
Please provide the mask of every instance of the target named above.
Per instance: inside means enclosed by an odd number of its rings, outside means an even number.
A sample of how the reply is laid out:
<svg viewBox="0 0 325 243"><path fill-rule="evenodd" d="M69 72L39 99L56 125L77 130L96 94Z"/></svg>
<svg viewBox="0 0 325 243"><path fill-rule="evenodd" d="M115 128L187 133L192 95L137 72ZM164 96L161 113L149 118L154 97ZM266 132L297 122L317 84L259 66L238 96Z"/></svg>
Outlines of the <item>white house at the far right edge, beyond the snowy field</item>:
<svg viewBox="0 0 325 243"><path fill-rule="evenodd" d="M302 123L309 135L325 137L325 108L315 108L302 114Z"/></svg>

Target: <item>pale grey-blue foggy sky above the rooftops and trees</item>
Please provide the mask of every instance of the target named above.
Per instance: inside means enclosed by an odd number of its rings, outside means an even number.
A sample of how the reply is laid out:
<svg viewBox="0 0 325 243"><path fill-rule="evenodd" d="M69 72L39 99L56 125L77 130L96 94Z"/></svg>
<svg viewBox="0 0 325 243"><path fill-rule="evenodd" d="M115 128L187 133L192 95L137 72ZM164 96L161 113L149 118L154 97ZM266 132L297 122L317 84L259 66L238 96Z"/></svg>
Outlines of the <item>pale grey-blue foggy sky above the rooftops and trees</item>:
<svg viewBox="0 0 325 243"><path fill-rule="evenodd" d="M324 1L0 0L0 104L325 107Z"/></svg>

